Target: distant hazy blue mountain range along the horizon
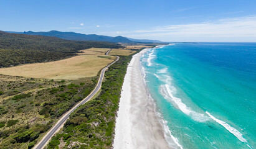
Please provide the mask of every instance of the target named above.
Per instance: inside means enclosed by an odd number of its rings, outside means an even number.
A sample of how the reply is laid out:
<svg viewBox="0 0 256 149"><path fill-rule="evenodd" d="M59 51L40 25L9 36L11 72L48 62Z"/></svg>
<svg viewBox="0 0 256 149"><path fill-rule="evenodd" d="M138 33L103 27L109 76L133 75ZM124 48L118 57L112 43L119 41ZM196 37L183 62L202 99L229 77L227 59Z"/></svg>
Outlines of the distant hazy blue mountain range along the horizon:
<svg viewBox="0 0 256 149"><path fill-rule="evenodd" d="M60 32L57 30L51 30L49 32L10 32L15 34L27 34L27 35L44 35L51 37L58 37L67 40L80 40L80 41L104 41L104 42L114 42L114 43L137 43L137 42L148 42L156 43L161 42L159 40L148 40L148 39L134 39L122 36L110 37L105 35L96 35L96 34L80 34L75 32Z"/></svg>

